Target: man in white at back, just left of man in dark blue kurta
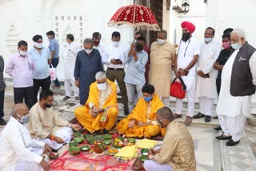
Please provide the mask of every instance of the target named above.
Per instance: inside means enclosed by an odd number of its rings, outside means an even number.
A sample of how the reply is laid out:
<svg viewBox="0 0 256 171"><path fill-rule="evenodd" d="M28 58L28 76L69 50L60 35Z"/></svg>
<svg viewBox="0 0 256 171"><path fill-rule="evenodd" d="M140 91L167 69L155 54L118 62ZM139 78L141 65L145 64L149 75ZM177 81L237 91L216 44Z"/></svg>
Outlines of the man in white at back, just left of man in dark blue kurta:
<svg viewBox="0 0 256 171"><path fill-rule="evenodd" d="M81 50L81 47L78 43L74 42L73 34L66 35L66 42L68 46L63 55L64 62L64 80L65 80L65 93L66 96L63 100L69 99L71 97L71 86L74 89L74 97L76 100L79 99L79 89L74 83L74 65L75 59L77 58L78 52Z"/></svg>

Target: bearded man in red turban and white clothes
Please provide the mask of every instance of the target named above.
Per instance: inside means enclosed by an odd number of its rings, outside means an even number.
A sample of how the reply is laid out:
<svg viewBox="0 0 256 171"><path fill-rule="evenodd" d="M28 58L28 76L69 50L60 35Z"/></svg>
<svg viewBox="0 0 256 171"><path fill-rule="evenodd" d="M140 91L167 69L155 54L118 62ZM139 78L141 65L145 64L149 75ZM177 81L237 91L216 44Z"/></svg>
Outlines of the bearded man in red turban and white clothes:
<svg viewBox="0 0 256 171"><path fill-rule="evenodd" d="M200 54L200 44L192 37L195 26L191 22L182 22L182 39L174 58L175 76L181 77L186 85L188 112L185 123L190 125L194 114L196 63ZM182 117L183 100L176 98L174 119Z"/></svg>

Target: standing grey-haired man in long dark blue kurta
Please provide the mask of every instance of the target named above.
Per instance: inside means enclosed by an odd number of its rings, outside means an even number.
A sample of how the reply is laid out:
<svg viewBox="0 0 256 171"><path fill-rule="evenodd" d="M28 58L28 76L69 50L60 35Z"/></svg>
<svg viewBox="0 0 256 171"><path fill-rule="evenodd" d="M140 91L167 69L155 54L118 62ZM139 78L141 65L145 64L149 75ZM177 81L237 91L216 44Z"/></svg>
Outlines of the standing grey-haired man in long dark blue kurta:
<svg viewBox="0 0 256 171"><path fill-rule="evenodd" d="M95 82L95 74L103 70L101 54L93 49L94 41L86 38L83 46L85 49L78 52L74 66L75 85L79 87L81 105L86 104L90 84Z"/></svg>

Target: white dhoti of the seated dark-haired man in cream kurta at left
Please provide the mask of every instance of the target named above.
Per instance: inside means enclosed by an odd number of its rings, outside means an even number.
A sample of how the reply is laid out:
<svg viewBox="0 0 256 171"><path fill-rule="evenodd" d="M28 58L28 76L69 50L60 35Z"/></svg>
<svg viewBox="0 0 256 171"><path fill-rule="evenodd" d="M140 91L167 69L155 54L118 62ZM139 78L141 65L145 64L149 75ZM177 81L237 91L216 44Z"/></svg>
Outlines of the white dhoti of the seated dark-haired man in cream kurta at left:
<svg viewBox="0 0 256 171"><path fill-rule="evenodd" d="M73 130L69 127L63 127L54 132L54 136L61 137L63 141L69 143L73 134ZM51 141L50 139L38 139L39 141L43 141L46 144L50 145L53 149L59 149L62 147L62 144L58 144L56 141Z"/></svg>

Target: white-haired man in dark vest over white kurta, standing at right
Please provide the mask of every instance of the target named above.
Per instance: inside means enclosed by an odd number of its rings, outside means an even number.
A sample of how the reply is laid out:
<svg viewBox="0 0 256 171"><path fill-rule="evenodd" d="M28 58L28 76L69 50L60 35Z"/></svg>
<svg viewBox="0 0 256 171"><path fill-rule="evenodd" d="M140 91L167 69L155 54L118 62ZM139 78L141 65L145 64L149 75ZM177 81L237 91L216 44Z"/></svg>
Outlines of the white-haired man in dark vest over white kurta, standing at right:
<svg viewBox="0 0 256 171"><path fill-rule="evenodd" d="M234 53L222 70L216 109L224 133L216 138L229 140L226 145L234 146L240 142L246 117L250 116L250 100L256 85L256 53L246 42L246 33L242 29L233 30L230 41Z"/></svg>

